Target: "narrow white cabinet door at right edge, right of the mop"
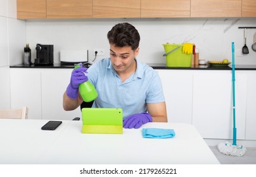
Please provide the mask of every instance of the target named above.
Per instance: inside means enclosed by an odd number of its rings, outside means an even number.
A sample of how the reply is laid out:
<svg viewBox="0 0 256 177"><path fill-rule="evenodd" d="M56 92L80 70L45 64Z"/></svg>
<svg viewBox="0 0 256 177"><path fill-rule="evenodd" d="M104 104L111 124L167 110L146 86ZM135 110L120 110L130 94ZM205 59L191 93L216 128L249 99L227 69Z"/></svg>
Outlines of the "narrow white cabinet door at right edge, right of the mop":
<svg viewBox="0 0 256 177"><path fill-rule="evenodd" d="M246 102L246 140L256 140L256 71L248 73Z"/></svg>

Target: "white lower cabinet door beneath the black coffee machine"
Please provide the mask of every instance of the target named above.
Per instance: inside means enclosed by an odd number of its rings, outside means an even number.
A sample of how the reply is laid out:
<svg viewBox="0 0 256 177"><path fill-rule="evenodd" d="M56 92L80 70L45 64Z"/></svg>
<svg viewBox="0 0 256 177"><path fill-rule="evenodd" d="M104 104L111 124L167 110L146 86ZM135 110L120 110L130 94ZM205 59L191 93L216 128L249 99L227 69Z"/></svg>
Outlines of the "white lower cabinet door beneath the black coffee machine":
<svg viewBox="0 0 256 177"><path fill-rule="evenodd" d="M29 107L29 119L41 119L41 71L10 68L11 108Z"/></svg>

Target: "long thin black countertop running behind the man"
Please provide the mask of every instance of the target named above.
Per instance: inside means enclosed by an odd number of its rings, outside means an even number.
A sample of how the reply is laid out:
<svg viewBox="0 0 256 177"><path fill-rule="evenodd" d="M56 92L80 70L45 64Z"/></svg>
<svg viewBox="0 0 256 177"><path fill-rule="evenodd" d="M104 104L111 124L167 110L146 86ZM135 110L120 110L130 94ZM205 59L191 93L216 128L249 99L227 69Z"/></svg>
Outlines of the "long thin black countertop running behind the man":
<svg viewBox="0 0 256 177"><path fill-rule="evenodd" d="M198 66L191 66L191 67L166 67L163 63L148 63L154 69L158 70L232 70L232 66L209 66L209 65L198 65ZM89 67L90 64L84 64L85 67ZM54 63L51 65L38 65L35 66L34 64L30 66L25 66L23 64L10 66L10 68L74 68L74 64L60 64ZM256 70L256 64L236 64L236 70Z"/></svg>

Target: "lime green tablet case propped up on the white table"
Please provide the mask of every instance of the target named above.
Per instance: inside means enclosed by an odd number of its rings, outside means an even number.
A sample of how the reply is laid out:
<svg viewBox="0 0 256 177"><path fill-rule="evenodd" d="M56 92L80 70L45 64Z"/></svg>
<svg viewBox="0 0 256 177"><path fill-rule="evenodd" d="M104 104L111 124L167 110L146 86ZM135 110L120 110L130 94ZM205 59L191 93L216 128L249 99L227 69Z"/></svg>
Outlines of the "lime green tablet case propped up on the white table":
<svg viewBox="0 0 256 177"><path fill-rule="evenodd" d="M122 134L122 109L82 108L82 133Z"/></svg>

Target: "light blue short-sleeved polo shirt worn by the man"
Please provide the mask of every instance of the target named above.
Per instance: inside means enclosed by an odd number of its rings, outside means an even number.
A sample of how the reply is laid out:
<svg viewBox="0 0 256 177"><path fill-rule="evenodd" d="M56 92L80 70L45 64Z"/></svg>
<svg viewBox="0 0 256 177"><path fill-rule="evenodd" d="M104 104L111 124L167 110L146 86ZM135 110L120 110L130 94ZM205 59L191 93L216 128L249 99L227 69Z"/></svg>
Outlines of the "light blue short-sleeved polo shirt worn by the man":
<svg viewBox="0 0 256 177"><path fill-rule="evenodd" d="M93 107L122 108L126 118L131 114L146 112L146 103L165 101L157 71L138 59L136 61L135 73L124 82L113 69L110 58L89 67L87 76L98 92Z"/></svg>

